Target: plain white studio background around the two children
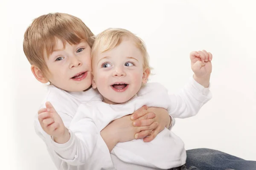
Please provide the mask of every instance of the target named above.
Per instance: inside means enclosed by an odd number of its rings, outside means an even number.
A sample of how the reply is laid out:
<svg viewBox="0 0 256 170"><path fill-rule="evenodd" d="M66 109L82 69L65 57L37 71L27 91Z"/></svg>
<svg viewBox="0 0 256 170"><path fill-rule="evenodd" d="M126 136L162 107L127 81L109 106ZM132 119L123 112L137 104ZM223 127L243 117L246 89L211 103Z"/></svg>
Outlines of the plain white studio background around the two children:
<svg viewBox="0 0 256 170"><path fill-rule="evenodd" d="M0 2L1 169L54 170L33 119L46 91L23 53L23 34L36 17L64 12L98 34L126 28L141 37L154 68L152 82L171 92L189 77L190 51L213 54L213 98L173 131L186 149L208 147L256 161L256 12L253 1L158 0ZM3 168L3 167L5 168Z"/></svg>

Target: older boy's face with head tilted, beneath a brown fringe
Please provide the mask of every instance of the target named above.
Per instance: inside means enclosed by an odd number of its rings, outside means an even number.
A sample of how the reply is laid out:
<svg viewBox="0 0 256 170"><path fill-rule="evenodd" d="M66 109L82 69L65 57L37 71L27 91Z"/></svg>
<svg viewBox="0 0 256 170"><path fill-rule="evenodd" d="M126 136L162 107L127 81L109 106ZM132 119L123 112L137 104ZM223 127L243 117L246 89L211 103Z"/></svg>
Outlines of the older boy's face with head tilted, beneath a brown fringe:
<svg viewBox="0 0 256 170"><path fill-rule="evenodd" d="M49 74L47 78L53 85L65 91L84 91L90 87L91 48L87 42L77 45L57 40L56 49L47 58L44 56Z"/></svg>

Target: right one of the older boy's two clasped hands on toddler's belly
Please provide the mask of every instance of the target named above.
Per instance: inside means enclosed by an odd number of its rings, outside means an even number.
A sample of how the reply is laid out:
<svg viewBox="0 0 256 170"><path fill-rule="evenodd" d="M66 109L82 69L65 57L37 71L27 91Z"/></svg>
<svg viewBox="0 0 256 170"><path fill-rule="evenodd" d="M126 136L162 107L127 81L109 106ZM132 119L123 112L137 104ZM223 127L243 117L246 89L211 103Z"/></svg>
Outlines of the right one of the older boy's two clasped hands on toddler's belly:
<svg viewBox="0 0 256 170"><path fill-rule="evenodd" d="M151 130L151 133L148 133L147 130L143 130L140 133L137 133L138 139L144 138L144 142L150 142L152 141L158 133L160 133L165 127L169 128L171 125L171 117L169 116L169 113L164 108L148 108L148 113L154 113L156 116L153 118L152 121L155 121L158 123L158 126ZM145 123L149 122L148 115L140 112L134 112L134 117L139 117L136 121L135 126L143 126Z"/></svg>

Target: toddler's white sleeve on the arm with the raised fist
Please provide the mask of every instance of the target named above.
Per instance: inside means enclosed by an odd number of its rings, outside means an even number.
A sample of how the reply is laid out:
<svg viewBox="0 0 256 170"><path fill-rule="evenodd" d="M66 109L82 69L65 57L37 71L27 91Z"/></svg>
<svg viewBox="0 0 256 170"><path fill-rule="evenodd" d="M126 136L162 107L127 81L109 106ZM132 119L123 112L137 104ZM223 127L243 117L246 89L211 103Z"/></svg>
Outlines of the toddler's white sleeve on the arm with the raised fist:
<svg viewBox="0 0 256 170"><path fill-rule="evenodd" d="M167 89L159 83L148 83L141 88L138 96L144 99L147 106L165 108L172 118L194 116L212 98L209 88L204 88L193 78L174 94L168 94ZM175 119L172 120L170 129L175 125Z"/></svg>

